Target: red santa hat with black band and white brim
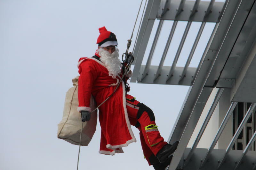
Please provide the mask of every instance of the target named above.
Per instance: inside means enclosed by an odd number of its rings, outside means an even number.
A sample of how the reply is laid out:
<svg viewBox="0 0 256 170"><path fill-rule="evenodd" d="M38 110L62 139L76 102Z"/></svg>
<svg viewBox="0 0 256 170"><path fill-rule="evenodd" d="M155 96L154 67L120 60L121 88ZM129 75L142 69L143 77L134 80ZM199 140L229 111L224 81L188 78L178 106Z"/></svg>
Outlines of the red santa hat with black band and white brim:
<svg viewBox="0 0 256 170"><path fill-rule="evenodd" d="M105 26L99 28L100 35L97 39L99 47L117 46L116 35L106 29Z"/></svg>

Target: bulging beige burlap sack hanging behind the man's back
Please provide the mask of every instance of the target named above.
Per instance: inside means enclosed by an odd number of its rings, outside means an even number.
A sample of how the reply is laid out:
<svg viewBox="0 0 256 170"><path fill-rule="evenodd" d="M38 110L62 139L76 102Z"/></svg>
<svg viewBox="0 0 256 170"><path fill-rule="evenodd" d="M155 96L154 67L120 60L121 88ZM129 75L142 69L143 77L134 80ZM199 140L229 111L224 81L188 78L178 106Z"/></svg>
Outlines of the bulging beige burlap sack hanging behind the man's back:
<svg viewBox="0 0 256 170"><path fill-rule="evenodd" d="M80 132L82 127L81 114L77 111L78 106L78 78L72 79L74 87L71 87L67 94L64 104L63 117L58 124L58 138L71 144L79 145ZM90 107L96 108L96 103L91 96ZM90 121L84 122L81 138L81 146L87 146L96 130L97 110L91 113Z"/></svg>

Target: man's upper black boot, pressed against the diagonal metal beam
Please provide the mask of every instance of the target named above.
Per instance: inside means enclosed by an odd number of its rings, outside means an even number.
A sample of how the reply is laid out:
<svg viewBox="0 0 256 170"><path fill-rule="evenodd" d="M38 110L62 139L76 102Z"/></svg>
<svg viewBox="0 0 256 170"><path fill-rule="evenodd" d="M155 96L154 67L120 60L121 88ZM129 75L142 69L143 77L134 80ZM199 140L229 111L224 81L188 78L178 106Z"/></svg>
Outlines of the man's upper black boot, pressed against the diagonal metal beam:
<svg viewBox="0 0 256 170"><path fill-rule="evenodd" d="M160 163L165 162L168 157L176 150L179 141L174 142L174 144L166 144L158 151L156 154L156 158L159 160Z"/></svg>

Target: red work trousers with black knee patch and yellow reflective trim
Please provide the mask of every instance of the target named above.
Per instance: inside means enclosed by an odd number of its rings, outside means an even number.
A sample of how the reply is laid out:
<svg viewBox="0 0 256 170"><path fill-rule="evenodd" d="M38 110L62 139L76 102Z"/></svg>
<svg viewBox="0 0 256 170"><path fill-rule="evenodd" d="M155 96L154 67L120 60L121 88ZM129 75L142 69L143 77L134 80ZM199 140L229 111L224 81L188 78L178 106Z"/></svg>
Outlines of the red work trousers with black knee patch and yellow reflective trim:
<svg viewBox="0 0 256 170"><path fill-rule="evenodd" d="M126 95L126 108L131 125L140 130L140 142L145 158L149 162L149 157L165 145L164 138L161 137L156 123L155 116L150 108L135 100L132 96Z"/></svg>

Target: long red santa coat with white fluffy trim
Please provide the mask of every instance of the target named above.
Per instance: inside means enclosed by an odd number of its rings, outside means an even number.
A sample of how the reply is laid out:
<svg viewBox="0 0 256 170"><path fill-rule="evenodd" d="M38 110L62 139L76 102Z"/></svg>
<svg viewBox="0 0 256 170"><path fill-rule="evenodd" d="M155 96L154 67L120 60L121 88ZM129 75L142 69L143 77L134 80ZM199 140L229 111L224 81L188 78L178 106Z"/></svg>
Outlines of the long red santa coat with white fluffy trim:
<svg viewBox="0 0 256 170"><path fill-rule="evenodd" d="M99 106L110 96L122 75L116 78L109 76L105 64L95 58L80 58L78 63L78 111L92 111L91 94ZM99 107L101 126L100 153L111 154L123 152L122 147L136 142L126 110L124 82L116 92Z"/></svg>

